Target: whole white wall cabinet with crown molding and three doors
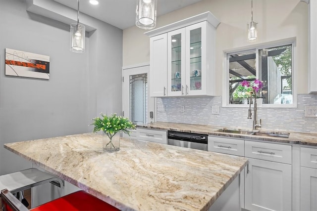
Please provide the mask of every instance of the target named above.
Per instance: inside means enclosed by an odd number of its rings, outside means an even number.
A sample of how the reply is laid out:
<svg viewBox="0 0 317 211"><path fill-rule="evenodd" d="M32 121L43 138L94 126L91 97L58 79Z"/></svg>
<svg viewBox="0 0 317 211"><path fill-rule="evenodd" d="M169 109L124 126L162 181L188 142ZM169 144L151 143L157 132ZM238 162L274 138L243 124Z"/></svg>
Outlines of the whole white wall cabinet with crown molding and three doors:
<svg viewBox="0 0 317 211"><path fill-rule="evenodd" d="M211 12L205 12L145 33L150 37L152 97L214 95L219 23ZM164 36L165 43L154 44Z"/></svg>

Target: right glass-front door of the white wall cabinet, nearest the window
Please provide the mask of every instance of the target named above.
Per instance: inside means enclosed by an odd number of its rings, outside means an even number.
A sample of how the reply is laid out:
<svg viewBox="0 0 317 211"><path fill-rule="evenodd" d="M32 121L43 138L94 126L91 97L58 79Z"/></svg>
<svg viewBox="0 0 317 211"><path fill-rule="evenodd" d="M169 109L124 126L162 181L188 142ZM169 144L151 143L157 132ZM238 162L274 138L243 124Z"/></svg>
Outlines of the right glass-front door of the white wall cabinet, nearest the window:
<svg viewBox="0 0 317 211"><path fill-rule="evenodd" d="M186 95L206 94L205 40L206 21L186 27Z"/></svg>

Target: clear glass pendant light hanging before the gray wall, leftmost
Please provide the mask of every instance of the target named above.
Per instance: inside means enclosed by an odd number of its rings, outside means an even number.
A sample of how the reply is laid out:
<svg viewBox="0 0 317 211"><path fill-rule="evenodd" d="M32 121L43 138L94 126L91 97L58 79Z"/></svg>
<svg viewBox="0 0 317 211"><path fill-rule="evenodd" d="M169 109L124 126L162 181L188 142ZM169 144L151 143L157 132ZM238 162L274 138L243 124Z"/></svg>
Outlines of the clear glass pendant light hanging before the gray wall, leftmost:
<svg viewBox="0 0 317 211"><path fill-rule="evenodd" d="M77 23L70 24L70 51L75 53L83 53L85 51L85 26L79 24L79 0Z"/></svg>

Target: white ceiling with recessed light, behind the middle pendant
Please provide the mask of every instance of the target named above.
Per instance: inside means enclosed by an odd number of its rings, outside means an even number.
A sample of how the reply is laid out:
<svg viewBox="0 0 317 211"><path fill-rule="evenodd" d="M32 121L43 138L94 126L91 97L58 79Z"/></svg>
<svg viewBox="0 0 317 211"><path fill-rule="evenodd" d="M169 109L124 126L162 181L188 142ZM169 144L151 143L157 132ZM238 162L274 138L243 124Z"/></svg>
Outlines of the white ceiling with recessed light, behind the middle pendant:
<svg viewBox="0 0 317 211"><path fill-rule="evenodd" d="M77 0L54 0L77 10ZM180 9L201 0L158 0L157 16ZM135 25L137 0L99 0L92 5L89 0L80 0L79 11L102 20L120 29Z"/></svg>

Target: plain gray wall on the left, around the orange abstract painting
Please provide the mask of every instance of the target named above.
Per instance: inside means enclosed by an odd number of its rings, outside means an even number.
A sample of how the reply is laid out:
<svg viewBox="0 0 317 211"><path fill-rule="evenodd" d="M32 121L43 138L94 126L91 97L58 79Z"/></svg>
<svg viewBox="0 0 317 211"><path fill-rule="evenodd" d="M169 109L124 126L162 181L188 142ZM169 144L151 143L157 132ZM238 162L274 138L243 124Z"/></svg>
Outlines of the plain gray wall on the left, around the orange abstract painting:
<svg viewBox="0 0 317 211"><path fill-rule="evenodd" d="M0 175L31 167L4 143L90 132L100 112L121 113L122 30L90 19L85 53L72 53L68 25L0 0ZM50 80L5 76L5 48L49 55Z"/></svg>

